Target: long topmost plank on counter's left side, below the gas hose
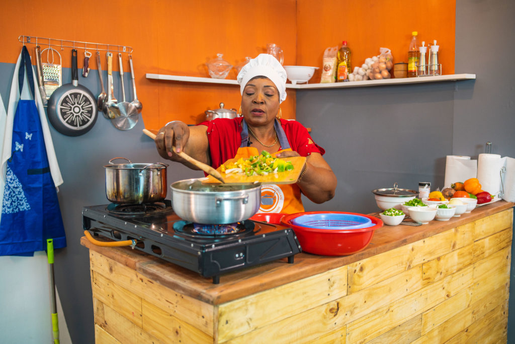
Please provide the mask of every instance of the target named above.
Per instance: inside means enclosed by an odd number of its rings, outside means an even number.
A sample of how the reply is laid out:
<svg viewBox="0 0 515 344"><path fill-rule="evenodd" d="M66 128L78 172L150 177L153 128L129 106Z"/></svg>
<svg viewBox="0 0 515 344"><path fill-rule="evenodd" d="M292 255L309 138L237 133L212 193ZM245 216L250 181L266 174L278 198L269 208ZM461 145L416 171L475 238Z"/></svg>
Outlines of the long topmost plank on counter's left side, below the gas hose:
<svg viewBox="0 0 515 344"><path fill-rule="evenodd" d="M113 261L97 252L91 253L91 269L108 276L138 297L157 305L178 319L213 336L213 305L170 290L149 277Z"/></svg>

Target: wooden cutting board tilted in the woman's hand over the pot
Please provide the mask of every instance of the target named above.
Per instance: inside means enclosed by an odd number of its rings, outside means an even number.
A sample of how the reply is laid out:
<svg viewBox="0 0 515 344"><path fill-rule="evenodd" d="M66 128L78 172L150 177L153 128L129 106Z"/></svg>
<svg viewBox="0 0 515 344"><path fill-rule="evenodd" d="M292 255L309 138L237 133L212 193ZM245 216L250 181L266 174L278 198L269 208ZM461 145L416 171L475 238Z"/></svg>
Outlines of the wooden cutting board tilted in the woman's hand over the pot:
<svg viewBox="0 0 515 344"><path fill-rule="evenodd" d="M245 174L237 174L237 173L229 173L226 174L224 172L220 172L220 167L216 170L221 173L224 178L225 184L294 184L299 179L300 173L306 165L306 157L305 156L293 156L289 158L284 158L285 161L291 161L293 163L293 170L284 171L284 172L276 172L269 173L267 175L253 175L247 176ZM227 165L231 162L236 162L237 159L229 159L224 165ZM209 175L204 181L204 184L221 184L218 179Z"/></svg>

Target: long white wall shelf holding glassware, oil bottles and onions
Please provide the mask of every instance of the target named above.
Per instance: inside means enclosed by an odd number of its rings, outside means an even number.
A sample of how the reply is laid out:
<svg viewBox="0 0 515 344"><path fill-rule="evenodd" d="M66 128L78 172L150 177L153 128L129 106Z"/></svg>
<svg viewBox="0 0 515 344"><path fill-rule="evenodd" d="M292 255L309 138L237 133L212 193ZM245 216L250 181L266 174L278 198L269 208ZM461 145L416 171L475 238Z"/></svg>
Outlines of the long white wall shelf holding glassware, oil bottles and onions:
<svg viewBox="0 0 515 344"><path fill-rule="evenodd" d="M234 79L213 79L196 76L181 76L167 74L146 74L147 79L183 81L186 83L204 83L204 84L226 84L238 85ZM398 78L398 79L382 79L382 80L364 80L349 81L348 83L328 83L328 84L286 84L286 88L293 89L327 89L327 88L347 88L347 87L371 87L386 85L404 85L404 84L420 84L420 83L436 83L438 81L457 81L457 80L475 80L475 74L450 74L438 76L423 76L415 78Z"/></svg>

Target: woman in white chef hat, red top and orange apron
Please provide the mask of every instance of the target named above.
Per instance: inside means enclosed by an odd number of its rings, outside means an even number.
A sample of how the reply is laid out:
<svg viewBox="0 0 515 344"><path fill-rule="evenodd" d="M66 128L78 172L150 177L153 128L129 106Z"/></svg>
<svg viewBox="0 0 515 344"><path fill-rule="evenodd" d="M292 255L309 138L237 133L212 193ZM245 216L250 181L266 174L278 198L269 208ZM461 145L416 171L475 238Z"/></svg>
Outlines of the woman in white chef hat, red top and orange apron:
<svg viewBox="0 0 515 344"><path fill-rule="evenodd" d="M155 139L159 154L192 169L197 168L179 157L172 145L177 152L213 168L261 151L280 158L305 156L305 168L295 184L262 186L259 212L302 212L301 193L315 203L331 200L336 176L322 158L324 149L299 122L281 119L280 104L286 99L286 71L281 63L272 55L260 54L242 68L237 81L242 94L240 117L205 121L191 128L180 121L169 122Z"/></svg>

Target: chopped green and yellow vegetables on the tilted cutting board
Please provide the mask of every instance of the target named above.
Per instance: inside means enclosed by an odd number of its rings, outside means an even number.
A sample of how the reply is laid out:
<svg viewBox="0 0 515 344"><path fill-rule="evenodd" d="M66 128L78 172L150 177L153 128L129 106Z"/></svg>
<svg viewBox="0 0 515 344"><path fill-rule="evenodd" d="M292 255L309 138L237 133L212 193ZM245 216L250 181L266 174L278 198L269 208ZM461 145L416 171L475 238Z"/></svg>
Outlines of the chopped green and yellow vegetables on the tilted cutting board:
<svg viewBox="0 0 515 344"><path fill-rule="evenodd" d="M293 163L283 159L274 158L267 151L260 155L251 156L247 159L239 158L236 162L221 165L221 172L252 175L266 175L273 172L284 172L293 170Z"/></svg>

